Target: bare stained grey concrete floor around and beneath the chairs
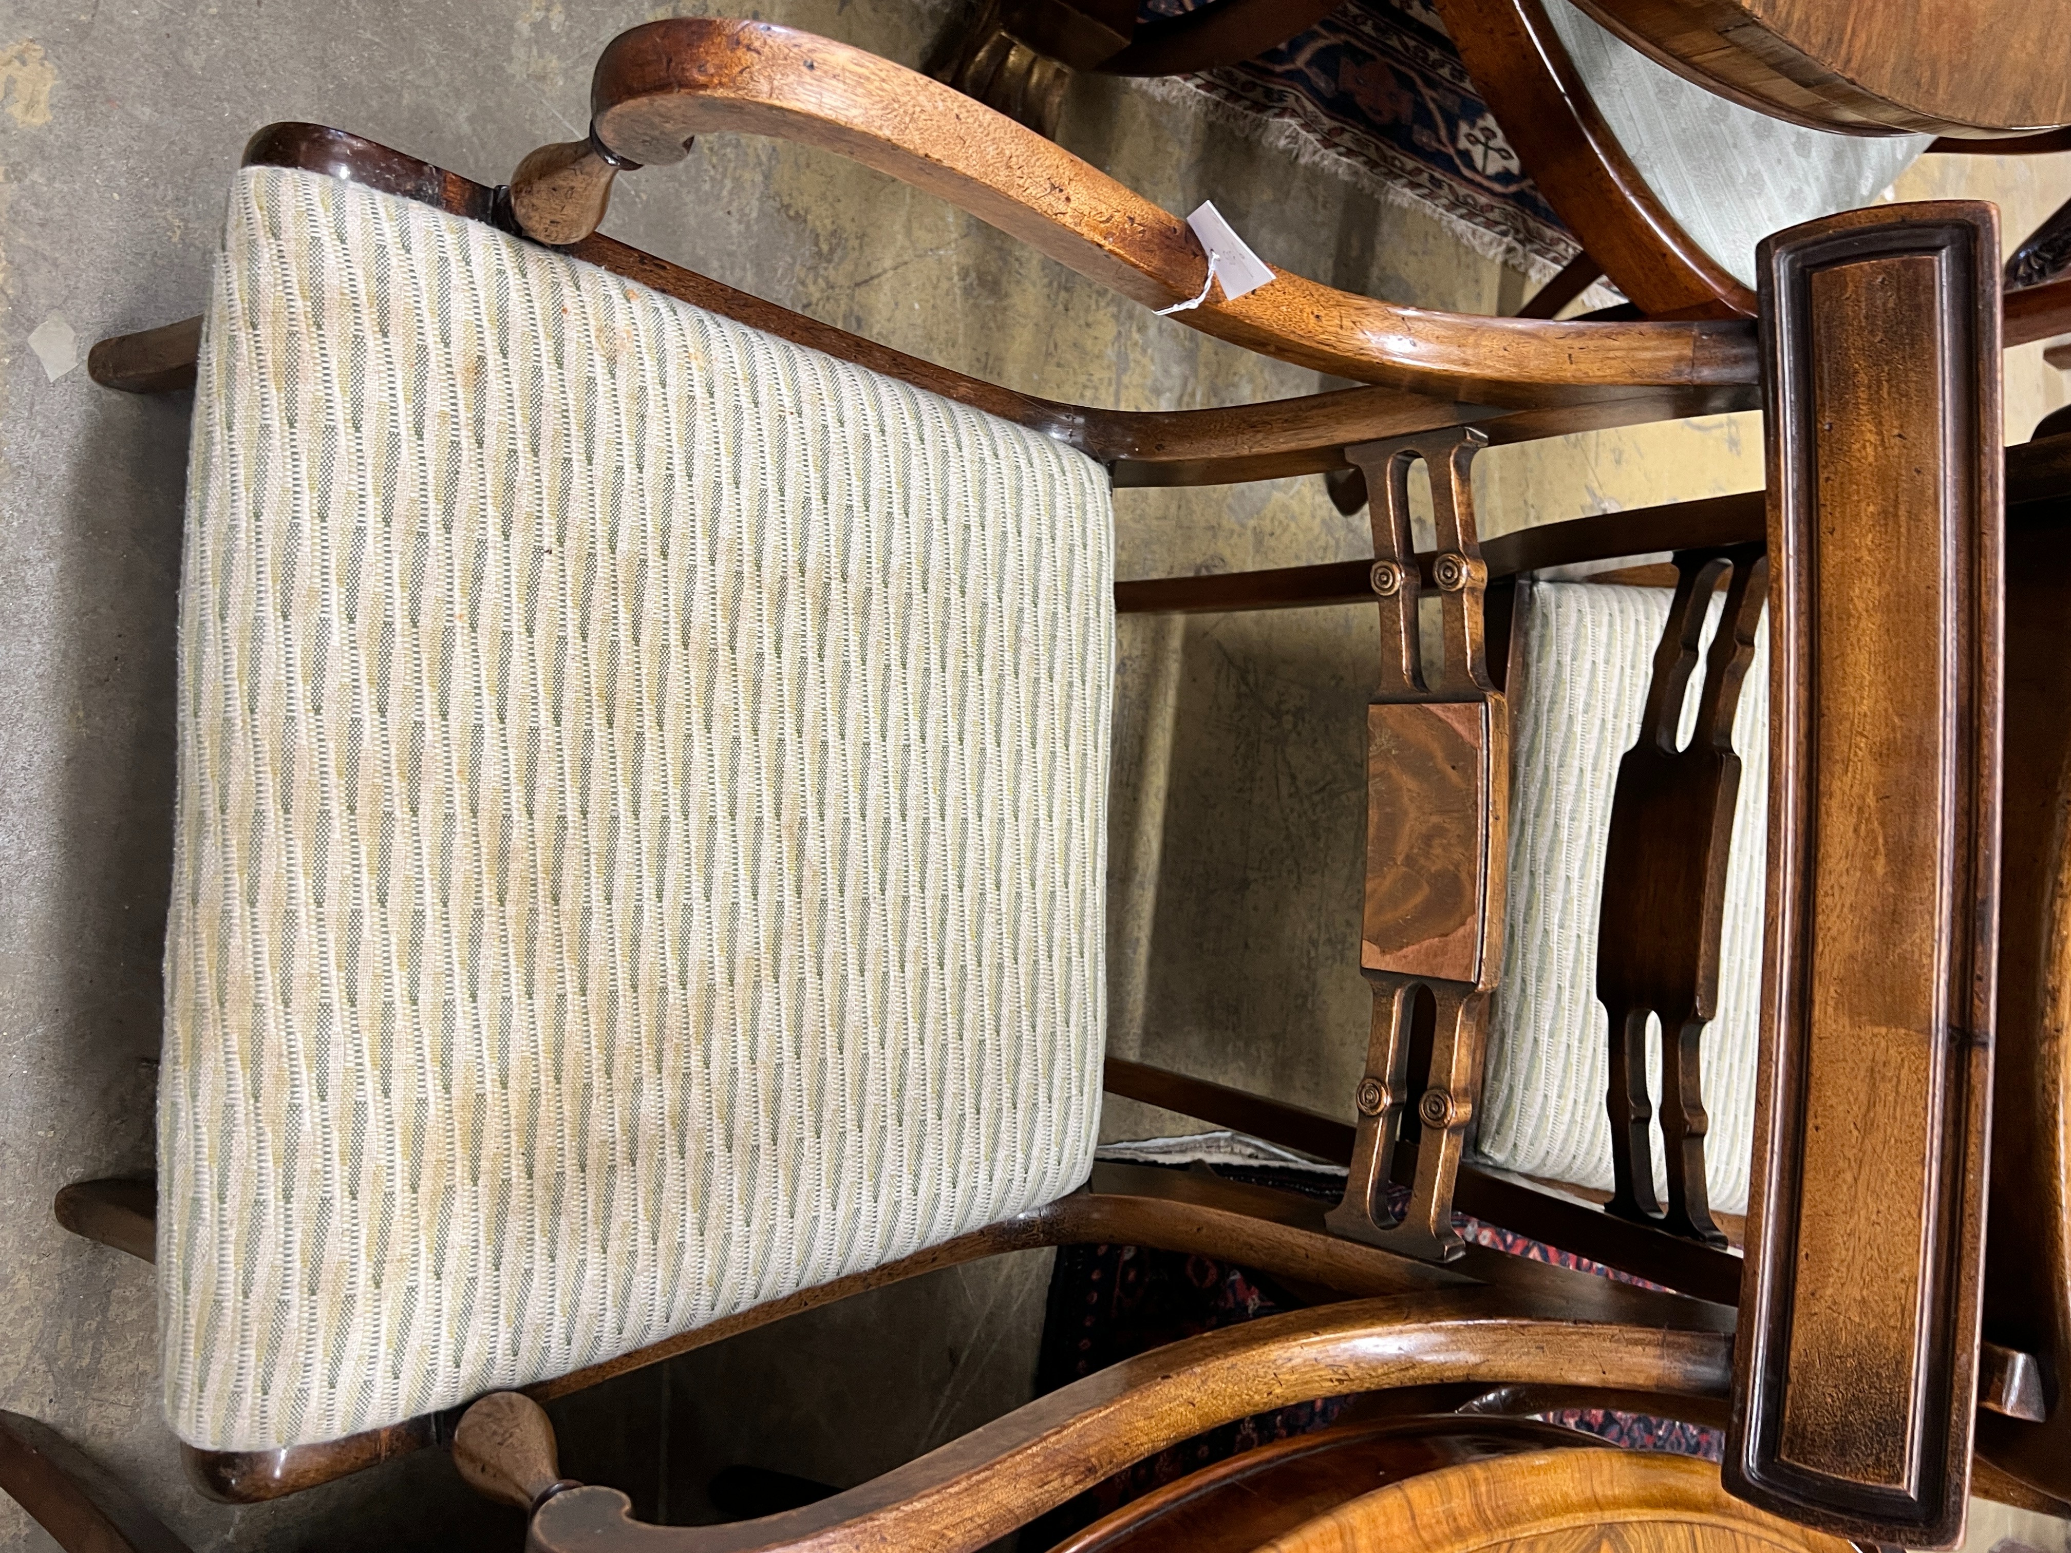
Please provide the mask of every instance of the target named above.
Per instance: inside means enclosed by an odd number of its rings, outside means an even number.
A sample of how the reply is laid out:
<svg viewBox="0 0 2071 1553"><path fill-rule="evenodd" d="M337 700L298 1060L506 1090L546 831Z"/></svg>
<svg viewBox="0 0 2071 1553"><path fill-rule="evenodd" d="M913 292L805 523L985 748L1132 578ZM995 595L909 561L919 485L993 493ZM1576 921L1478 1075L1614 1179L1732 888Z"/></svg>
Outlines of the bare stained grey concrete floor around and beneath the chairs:
<svg viewBox="0 0 2071 1553"><path fill-rule="evenodd" d="M596 0L12 0L0 10L0 1406L66 1433L201 1547L512 1547L443 1456L234 1512L199 1499L157 1412L151 1269L62 1234L66 1180L151 1166L172 810L172 634L188 398L135 400L48 348L195 313L246 135L340 124L483 180L578 135L603 43L654 10ZM953 0L772 0L756 14L920 62ZM1520 275L1228 128L1083 81L1062 141L1168 209L1214 197L1270 259L1425 306L1508 311ZM2063 157L1945 159L1905 193L1999 193L2023 232ZM1100 292L903 184L710 139L621 180L609 230L967 373L1060 400L1282 398L1313 373ZM52 323L56 321L56 323ZM62 356L62 352L60 352ZM62 362L60 362L62 364ZM2009 360L2009 433L2065 398ZM1499 449L1485 532L1760 485L1750 416ZM1116 497L1120 576L1371 553L1319 480ZM1127 621L1114 777L1112 1048L1346 1110L1367 994L1359 917L1365 611ZM1108 1135L1172 1118L1114 1104ZM1048 1257L853 1300L559 1408L563 1466L642 1514L710 1514L750 1462L864 1481L1027 1398ZM663 1462L671 1466L665 1470ZM2054 1532L2025 1541L2063 1547ZM2054 1541L2050 1541L2054 1536ZM0 1501L0 1549L50 1547Z"/></svg>

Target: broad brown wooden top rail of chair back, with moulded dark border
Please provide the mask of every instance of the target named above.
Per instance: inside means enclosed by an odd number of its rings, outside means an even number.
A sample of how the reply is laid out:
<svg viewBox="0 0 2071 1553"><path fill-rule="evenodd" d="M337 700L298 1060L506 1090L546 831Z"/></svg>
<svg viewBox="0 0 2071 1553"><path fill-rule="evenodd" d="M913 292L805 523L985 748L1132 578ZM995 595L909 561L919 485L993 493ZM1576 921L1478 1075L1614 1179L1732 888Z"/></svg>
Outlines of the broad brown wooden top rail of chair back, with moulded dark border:
<svg viewBox="0 0 2071 1553"><path fill-rule="evenodd" d="M1849 211L1758 271L1769 942L1725 1481L1955 1547L1999 969L1996 211Z"/></svg>

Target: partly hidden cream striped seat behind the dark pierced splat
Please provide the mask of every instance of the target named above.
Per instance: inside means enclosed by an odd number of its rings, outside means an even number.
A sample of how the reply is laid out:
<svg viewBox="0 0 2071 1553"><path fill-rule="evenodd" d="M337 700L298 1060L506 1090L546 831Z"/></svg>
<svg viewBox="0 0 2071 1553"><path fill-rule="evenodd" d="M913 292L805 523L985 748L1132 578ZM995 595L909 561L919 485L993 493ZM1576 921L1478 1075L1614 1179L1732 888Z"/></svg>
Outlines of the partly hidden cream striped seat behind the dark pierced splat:
<svg viewBox="0 0 2071 1553"><path fill-rule="evenodd" d="M1719 625L1713 598L1704 629ZM1537 582L1518 588L1512 658L1510 901L1501 986L1489 1013L1489 1064L1477 1153L1533 1176L1611 1186L1605 1095L1609 1017L1597 1002L1597 909L1611 834L1617 762L1640 735L1667 588ZM1696 725L1702 669L1684 702L1682 737ZM1711 1205L1742 1213L1754 1153L1754 1048L1762 990L1762 857L1769 824L1769 629L1756 638L1733 716L1740 803L1725 870L1719 1010L1704 1029L1700 1068L1711 1135ZM1649 1042L1651 1091L1661 1095L1661 1050ZM1655 1120L1655 1182L1665 1182Z"/></svg>

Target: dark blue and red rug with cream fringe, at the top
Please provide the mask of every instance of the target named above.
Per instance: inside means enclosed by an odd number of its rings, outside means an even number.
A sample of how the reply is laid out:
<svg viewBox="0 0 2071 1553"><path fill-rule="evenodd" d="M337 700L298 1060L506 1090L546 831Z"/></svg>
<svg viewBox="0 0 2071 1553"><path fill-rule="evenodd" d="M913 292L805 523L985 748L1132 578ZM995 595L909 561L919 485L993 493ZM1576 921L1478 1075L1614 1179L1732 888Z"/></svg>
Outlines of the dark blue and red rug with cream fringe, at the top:
<svg viewBox="0 0 2071 1553"><path fill-rule="evenodd" d="M1141 0L1141 14L1176 17L1199 4ZM1533 280L1551 277L1580 251L1423 0L1344 0L1255 60L1139 85L1390 205L1414 205L1475 253ZM1593 306L1622 300L1603 284L1591 296Z"/></svg>

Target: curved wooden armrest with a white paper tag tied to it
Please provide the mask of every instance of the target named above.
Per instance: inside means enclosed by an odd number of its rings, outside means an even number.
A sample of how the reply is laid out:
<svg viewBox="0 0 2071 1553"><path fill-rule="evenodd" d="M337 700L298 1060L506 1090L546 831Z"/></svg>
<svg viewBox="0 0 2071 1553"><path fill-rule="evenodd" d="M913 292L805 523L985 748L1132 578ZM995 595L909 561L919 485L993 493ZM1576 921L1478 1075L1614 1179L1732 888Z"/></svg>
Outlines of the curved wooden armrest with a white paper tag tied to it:
<svg viewBox="0 0 2071 1553"><path fill-rule="evenodd" d="M1207 259L1176 215L959 91L864 50L752 21L657 21L596 62L590 139L541 147L512 211L541 242L596 230L617 172L681 162L698 135L814 145L971 211L1143 306L1201 292ZM1557 323L1398 306L1276 271L1178 321L1323 373L1481 404L1559 404L1603 387L1756 381L1754 325Z"/></svg>

